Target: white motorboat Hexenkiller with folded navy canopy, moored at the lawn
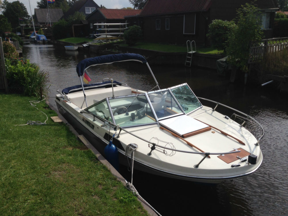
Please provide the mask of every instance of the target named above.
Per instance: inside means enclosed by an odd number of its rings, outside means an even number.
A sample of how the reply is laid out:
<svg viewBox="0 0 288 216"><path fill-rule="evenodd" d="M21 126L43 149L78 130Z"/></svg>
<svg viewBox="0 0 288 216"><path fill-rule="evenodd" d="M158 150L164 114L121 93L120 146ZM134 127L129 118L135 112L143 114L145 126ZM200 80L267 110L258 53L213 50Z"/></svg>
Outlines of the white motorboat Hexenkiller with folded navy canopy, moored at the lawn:
<svg viewBox="0 0 288 216"><path fill-rule="evenodd" d="M158 90L146 92L108 78L82 83L89 67L121 61L146 64ZM81 85L58 90L58 110L115 167L118 160L130 164L128 158L135 169L144 172L220 183L254 173L262 163L259 142L264 130L254 118L197 98L187 83L160 89L139 54L87 58L79 62L77 73ZM215 107L204 106L200 100ZM221 106L233 112L230 118L216 111ZM253 124L258 139L246 129L247 123Z"/></svg>

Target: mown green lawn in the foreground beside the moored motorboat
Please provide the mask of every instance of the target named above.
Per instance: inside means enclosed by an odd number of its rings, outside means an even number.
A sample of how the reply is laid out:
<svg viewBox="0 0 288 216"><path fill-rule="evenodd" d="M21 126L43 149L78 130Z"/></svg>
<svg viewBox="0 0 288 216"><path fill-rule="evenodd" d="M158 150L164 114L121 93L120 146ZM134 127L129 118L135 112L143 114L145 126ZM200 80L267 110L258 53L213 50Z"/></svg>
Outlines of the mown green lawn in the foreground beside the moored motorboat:
<svg viewBox="0 0 288 216"><path fill-rule="evenodd" d="M1 215L147 215L45 101L0 94Z"/></svg>

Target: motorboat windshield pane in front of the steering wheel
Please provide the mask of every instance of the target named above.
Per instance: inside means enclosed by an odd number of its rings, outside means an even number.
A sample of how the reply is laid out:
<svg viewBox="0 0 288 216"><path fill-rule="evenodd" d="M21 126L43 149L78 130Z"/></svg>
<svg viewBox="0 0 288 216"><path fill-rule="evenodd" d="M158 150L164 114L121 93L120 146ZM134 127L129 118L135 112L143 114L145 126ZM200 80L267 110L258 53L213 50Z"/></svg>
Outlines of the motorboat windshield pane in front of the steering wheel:
<svg viewBox="0 0 288 216"><path fill-rule="evenodd" d="M155 123L155 117L149 107L145 94L120 98L108 98L115 124L134 126Z"/></svg>

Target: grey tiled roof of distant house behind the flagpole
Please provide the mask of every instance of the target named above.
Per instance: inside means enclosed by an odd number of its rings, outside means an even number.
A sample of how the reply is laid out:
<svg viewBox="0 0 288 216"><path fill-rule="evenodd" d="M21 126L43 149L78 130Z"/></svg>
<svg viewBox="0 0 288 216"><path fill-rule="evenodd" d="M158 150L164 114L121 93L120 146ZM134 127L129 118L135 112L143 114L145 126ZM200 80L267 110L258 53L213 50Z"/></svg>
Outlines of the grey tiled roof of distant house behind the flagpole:
<svg viewBox="0 0 288 216"><path fill-rule="evenodd" d="M35 12L35 16L37 17L38 22L47 22L47 18L46 18L48 14L47 8L35 8L34 12ZM60 18L63 16L63 11L60 8L50 8L49 14L50 14L51 22L58 22Z"/></svg>

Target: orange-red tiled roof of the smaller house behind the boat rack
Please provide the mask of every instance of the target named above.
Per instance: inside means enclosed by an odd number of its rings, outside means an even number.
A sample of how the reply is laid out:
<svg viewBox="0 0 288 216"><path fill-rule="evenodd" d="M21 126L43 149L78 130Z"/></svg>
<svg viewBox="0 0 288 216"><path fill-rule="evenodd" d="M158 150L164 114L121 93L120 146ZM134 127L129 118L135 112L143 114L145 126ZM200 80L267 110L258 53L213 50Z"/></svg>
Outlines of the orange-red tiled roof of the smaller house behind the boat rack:
<svg viewBox="0 0 288 216"><path fill-rule="evenodd" d="M124 16L136 16L140 14L141 9L106 9L99 8L98 11L103 14L106 19L124 19Z"/></svg>

